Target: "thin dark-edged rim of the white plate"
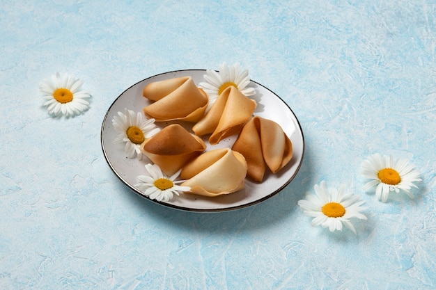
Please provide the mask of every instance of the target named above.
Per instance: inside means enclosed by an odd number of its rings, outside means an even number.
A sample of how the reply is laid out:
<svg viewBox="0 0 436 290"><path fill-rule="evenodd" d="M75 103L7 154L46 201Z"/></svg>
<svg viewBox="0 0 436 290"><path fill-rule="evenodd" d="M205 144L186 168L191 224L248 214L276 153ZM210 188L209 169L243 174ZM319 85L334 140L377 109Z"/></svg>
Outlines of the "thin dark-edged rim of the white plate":
<svg viewBox="0 0 436 290"><path fill-rule="evenodd" d="M115 170L114 166L112 166L112 164L111 164L111 162L109 161L109 158L108 158L108 156L107 156L107 152L106 152L106 150L105 150L105 148L104 148L104 144L103 144L103 143L104 143L104 141L103 141L103 132L104 132L103 129L104 129L104 125L105 125L106 122L107 122L107 117L108 117L108 115L109 115L109 113L110 113L110 111L111 111L111 108L112 108L112 106L114 106L114 104L116 104L117 100L118 100L118 99L119 99L119 98L120 98L120 97L121 97L125 92L127 92L127 90L130 90L130 89L133 88L134 86L137 86L138 83L141 83L141 82L146 81L146 80L148 80L148 79L154 78L154 77L159 76L159 75L162 75L162 74L171 74L171 73L180 73L180 72L192 72L192 71L196 71L196 72L198 72L198 71L203 71L203 72L206 72L205 69L185 69L185 70L171 70L171 71L169 71L169 72L161 72L161 73L159 73L159 74L154 74L153 76L148 76L146 79L142 79L142 80L137 81L136 83L132 84L132 86L130 86L129 88L126 88L125 90L123 90L123 92L121 92L121 93L118 95L118 97L116 97L116 99L114 99L114 102L111 103L111 105L109 106L109 108L107 108L106 113L104 114L104 118L103 118L103 121L102 121L102 126L101 126L101 129L100 129L100 145L101 145L101 147L102 147L102 151L103 151L104 159L106 160L107 164L109 165L109 168L111 168L112 172L114 172L114 174L116 175L116 177L118 177L118 179L120 179L120 181L121 181L125 186L127 186L127 188L130 188L131 191L133 191L133 192L136 193L137 195L141 196L141 198L145 198L146 200L149 200L149 201L154 202L154 203L156 203L156 204L163 205L164 207L169 207L169 208L171 208L171 209L178 209L178 210L180 210L180 211L201 212L201 213L214 213L214 212L224 212L224 211L235 211L235 210L237 210L237 209L244 209L244 208L246 208L246 207L251 207L251 206L253 206L254 204L258 204L258 203L260 203L260 202L263 202L263 201L265 201L265 200L267 200L267 199L272 198L274 195L277 195L277 193L281 192L281 191L283 190L283 188L285 188L286 186L288 186L288 185L290 184L290 182L293 181L293 179L297 176L297 174L298 174L298 172L299 172L299 170L300 170L300 168L301 168L301 166L302 166L302 163L303 163L303 161L304 161L304 152L305 152L305 150L306 150L305 140L304 140L304 132L303 132L303 129L302 129L301 124L299 123L299 120L298 120L298 118L297 118L297 115L295 115L295 113L294 113L294 111L292 110L292 108L290 108L290 106L289 106L289 105L288 105L288 104L287 104L287 103L286 103L286 102L285 102L285 101L284 101L284 100L283 100L279 95L277 95L275 92L273 92L272 90L270 90L270 88L267 88L267 87L263 86L261 83L258 83L257 81L253 81L252 79L250 79L251 82L256 83L258 86L262 86L262 87L265 88L266 90L270 91L270 92L271 92L275 97L277 97L281 102L283 102L283 104L285 104L285 105L288 107L288 109L290 110L290 112L294 115L294 117L295 117L295 121L296 121L296 123L297 123L297 125L298 125L298 128L299 128L299 131L301 132L301 138L302 138L302 156L301 156L301 160L299 161L299 164L298 164L298 166L297 166L295 172L294 172L293 175L288 179L288 181L285 182L285 183L284 183L282 186L280 186L279 188L277 188L277 190L275 190L274 192L272 192L272 193L270 193L270 194L268 194L268 195L265 195L263 198L260 198L260 199L258 199L258 200L254 200L254 201L252 201L252 202L248 202L248 203L245 203L245 204L240 204L240 205L237 205L237 206L234 206L234 207L224 207L224 208L217 208L217 209L193 209L193 208L187 208L187 207L180 207L180 206L175 205L175 204L169 204L169 203L166 203L166 202L159 202L159 201L157 201L157 200L152 200L151 198L148 198L148 196L143 195L143 193L141 193L137 188L134 188L134 186L132 186L131 184L125 182L125 180L124 180L122 177L120 177L120 175L118 174L118 172ZM216 72L218 72L218 71L216 71Z"/></svg>

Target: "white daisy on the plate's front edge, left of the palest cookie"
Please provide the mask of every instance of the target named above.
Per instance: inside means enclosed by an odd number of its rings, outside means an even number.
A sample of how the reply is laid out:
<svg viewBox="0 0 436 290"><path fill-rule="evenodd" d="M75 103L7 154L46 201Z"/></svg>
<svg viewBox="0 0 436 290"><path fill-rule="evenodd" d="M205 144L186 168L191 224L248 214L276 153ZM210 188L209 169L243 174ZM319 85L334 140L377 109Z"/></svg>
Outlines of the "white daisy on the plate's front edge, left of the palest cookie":
<svg viewBox="0 0 436 290"><path fill-rule="evenodd" d="M189 186L177 185L184 182L184 180L175 181L180 175L181 169L171 177L164 175L156 164L146 164L146 170L151 176L139 175L137 179L142 183L135 186L152 200L168 202L173 198L174 194L179 195L180 191L191 190Z"/></svg>

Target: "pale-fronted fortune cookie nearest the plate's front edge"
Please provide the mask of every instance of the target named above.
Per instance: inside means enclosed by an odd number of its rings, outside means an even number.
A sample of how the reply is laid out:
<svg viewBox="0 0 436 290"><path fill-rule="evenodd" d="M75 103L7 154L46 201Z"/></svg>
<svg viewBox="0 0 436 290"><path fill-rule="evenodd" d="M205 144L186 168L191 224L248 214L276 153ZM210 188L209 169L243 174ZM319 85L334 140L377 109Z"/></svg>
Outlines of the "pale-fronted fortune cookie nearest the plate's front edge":
<svg viewBox="0 0 436 290"><path fill-rule="evenodd" d="M242 154L222 148L205 152L182 168L182 186L198 195L215 197L240 191L245 186L247 162Z"/></svg>

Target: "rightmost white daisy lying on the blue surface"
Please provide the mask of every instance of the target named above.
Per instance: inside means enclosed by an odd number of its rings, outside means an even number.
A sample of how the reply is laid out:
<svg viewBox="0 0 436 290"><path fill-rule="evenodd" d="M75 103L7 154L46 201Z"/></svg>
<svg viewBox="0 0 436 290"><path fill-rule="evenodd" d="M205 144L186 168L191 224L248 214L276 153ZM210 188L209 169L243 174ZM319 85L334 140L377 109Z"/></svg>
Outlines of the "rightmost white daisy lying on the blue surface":
<svg viewBox="0 0 436 290"><path fill-rule="evenodd" d="M361 164L361 175L372 179L364 185L364 191L375 187L375 195L381 202L387 202L389 193L404 191L413 198L410 189L414 182L421 182L419 171L408 159L394 159L392 156L373 154Z"/></svg>

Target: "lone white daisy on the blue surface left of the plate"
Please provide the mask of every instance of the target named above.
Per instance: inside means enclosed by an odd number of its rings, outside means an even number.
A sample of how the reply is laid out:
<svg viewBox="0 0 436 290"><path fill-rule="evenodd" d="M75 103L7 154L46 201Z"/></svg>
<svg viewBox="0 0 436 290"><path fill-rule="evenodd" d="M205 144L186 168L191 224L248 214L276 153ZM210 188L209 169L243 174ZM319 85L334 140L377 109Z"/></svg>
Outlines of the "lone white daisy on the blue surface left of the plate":
<svg viewBox="0 0 436 290"><path fill-rule="evenodd" d="M49 114L70 117L88 110L89 102L86 99L91 95L81 90L83 83L84 81L75 79L74 76L61 78L59 72L52 76L51 81L45 79L40 83L40 92L45 99L44 106Z"/></svg>

